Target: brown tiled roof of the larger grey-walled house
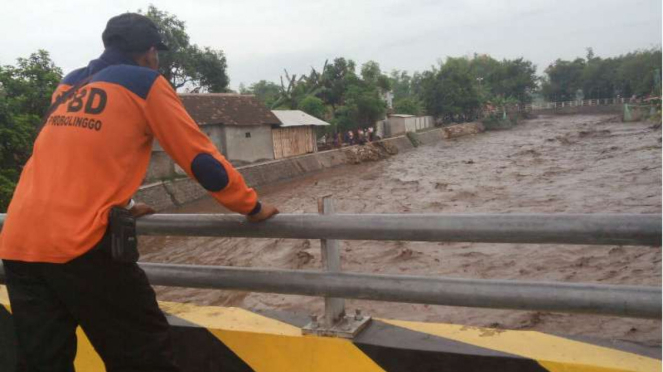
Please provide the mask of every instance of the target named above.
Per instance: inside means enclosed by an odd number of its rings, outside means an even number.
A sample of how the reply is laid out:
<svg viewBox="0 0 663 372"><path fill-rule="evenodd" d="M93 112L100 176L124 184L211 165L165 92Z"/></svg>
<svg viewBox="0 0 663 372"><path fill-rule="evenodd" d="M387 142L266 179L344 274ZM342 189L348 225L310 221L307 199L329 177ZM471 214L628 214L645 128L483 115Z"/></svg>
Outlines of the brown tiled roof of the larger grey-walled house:
<svg viewBox="0 0 663 372"><path fill-rule="evenodd" d="M198 125L281 124L267 106L254 96L227 93L187 93L179 96Z"/></svg>

